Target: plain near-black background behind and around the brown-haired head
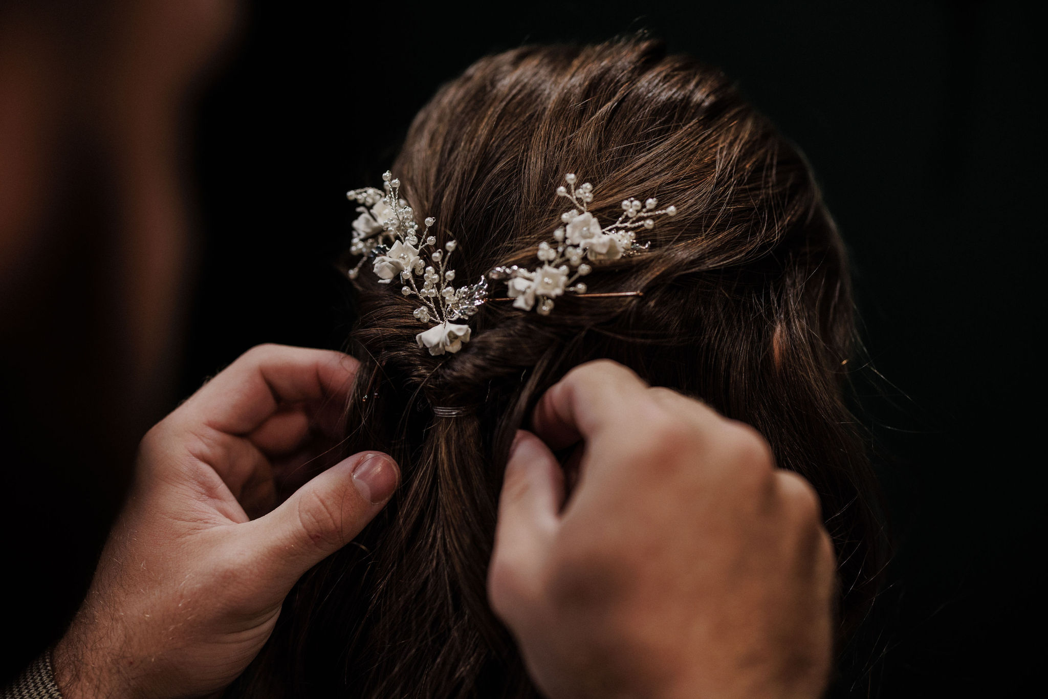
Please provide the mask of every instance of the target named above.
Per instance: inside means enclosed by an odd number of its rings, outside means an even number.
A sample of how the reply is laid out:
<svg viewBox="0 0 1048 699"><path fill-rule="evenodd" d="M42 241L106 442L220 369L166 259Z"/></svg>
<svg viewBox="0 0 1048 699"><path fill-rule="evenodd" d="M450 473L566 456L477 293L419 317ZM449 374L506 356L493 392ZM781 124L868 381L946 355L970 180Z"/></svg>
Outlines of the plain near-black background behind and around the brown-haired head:
<svg viewBox="0 0 1048 699"><path fill-rule="evenodd" d="M379 181L438 85L521 43L648 29L801 146L850 245L896 542L868 686L1018 696L1045 651L1040 26L988 2L250 3L192 115L198 276L169 408L254 344L342 345L344 193ZM96 551L96 519L63 547ZM82 559L12 662L58 633Z"/></svg>

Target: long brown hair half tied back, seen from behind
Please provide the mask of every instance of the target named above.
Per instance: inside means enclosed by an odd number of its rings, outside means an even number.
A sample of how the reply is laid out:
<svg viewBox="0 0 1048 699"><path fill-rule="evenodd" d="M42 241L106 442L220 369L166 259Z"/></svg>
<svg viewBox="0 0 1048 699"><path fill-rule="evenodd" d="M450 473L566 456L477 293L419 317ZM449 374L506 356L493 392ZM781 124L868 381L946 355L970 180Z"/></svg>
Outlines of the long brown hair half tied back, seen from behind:
<svg viewBox="0 0 1048 699"><path fill-rule="evenodd" d="M811 481L846 635L880 569L875 490L845 401L845 253L796 149L719 71L630 39L478 61L419 112L393 172L440 244L459 241L459 280L532 263L565 209L553 189L567 172L593 182L602 217L632 195L679 214L645 232L652 252L587 278L591 291L642 298L566 296L548 316L488 303L454 355L420 350L417 303L361 275L346 449L388 451L403 483L357 545L300 582L232 694L537 696L486 600L497 497L534 401L596 357L752 424L780 466Z"/></svg>

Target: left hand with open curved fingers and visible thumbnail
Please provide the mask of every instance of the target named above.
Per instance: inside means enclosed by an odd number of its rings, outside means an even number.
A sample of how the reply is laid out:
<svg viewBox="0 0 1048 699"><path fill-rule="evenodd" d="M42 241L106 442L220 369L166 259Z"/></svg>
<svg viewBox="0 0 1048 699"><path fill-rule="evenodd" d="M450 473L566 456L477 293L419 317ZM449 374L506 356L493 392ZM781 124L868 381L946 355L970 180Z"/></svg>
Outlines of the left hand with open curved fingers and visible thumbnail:
<svg viewBox="0 0 1048 699"><path fill-rule="evenodd" d="M54 649L66 699L201 696L250 662L299 576L396 487L390 457L357 454L248 517L339 438L356 367L337 352L257 347L150 430L87 599Z"/></svg>

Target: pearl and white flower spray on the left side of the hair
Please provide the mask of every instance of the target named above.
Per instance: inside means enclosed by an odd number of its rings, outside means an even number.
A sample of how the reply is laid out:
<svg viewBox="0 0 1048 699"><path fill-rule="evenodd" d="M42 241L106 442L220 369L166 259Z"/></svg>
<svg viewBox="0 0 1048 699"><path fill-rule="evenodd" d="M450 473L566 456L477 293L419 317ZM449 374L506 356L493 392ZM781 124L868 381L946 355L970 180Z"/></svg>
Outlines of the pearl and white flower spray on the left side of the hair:
<svg viewBox="0 0 1048 699"><path fill-rule="evenodd" d="M430 235L436 222L427 218L419 231L415 212L400 198L400 180L387 172L383 190L369 187L346 194L357 206L359 216L353 221L350 253L361 257L349 270L356 279L361 268L370 261L379 284L399 282L400 293L418 299L415 318L433 327L415 335L419 347L430 354L458 352L470 342L470 326L453 321L467 320L477 312L487 296L487 281L481 278L473 285L455 288L455 270L449 267L458 243L447 240L443 249Z"/></svg>

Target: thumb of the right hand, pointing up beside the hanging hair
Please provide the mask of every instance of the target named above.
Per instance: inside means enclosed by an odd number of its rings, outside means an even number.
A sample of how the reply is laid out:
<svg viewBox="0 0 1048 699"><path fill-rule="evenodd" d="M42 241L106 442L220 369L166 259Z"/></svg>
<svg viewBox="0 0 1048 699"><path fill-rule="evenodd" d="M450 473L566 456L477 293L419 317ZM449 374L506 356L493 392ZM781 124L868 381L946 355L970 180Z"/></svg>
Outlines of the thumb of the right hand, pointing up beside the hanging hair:
<svg viewBox="0 0 1048 699"><path fill-rule="evenodd" d="M488 568L488 596L511 621L520 597L537 580L549 542L560 526L564 472L545 442L520 430L506 463L499 499L495 551Z"/></svg>

